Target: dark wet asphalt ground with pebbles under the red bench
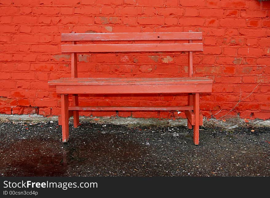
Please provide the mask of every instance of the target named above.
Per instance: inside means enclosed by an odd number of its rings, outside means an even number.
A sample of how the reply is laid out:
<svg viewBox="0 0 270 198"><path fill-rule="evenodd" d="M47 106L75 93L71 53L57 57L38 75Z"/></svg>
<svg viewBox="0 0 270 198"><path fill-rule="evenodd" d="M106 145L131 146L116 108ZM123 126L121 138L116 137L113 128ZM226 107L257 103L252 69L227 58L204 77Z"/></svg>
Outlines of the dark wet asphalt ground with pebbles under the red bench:
<svg viewBox="0 0 270 198"><path fill-rule="evenodd" d="M0 123L1 176L270 176L270 128Z"/></svg>

